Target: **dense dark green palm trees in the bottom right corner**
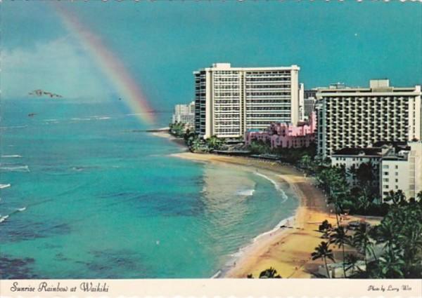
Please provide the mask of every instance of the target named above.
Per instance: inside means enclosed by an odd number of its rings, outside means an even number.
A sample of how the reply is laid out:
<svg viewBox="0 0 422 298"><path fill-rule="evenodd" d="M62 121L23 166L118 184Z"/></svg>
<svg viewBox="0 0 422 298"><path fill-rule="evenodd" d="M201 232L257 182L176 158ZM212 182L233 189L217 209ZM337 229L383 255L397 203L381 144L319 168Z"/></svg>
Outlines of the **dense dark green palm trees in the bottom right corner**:
<svg viewBox="0 0 422 298"><path fill-rule="evenodd" d="M340 222L335 228L328 227L328 221L321 223L319 231L328 233L329 240L321 241L311 255L312 259L324 260L328 277L331 273L327 259L335 262L331 245L337 245L343 250L345 277L422 278L422 191L409 200L397 191L391 194L391 201L387 214L376 226L360 222L351 231ZM346 245L354 253L345 255ZM354 270L359 259L364 260L364 269Z"/></svg>

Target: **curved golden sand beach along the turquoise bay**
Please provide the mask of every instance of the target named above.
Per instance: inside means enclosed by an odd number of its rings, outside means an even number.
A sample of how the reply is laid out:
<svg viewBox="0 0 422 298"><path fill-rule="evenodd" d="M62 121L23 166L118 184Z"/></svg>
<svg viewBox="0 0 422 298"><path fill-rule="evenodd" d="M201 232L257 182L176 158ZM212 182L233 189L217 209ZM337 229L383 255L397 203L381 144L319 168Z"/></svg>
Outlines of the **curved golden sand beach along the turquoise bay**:
<svg viewBox="0 0 422 298"><path fill-rule="evenodd" d="M256 278L270 266L283 278L310 278L317 270L320 261L312 261L311 252L321 242L318 225L335 217L328 213L326 199L321 190L314 187L314 179L305 177L302 172L289 165L254 158L219 156L214 154L193 154L182 152L174 157L191 161L224 163L259 170L279 181L287 182L300 199L300 207L286 227L274 229L255 238L255 241L242 250L234 264L222 270L218 277L245 278L248 274Z"/></svg>

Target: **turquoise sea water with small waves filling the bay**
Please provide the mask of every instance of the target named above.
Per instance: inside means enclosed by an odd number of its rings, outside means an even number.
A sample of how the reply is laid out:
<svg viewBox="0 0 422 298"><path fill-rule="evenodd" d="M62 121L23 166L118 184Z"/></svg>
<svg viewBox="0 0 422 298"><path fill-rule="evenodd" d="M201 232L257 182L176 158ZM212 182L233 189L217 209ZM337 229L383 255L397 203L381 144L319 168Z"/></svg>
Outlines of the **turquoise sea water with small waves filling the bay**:
<svg viewBox="0 0 422 298"><path fill-rule="evenodd" d="M1 278L207 278L298 207L252 171L169 156L121 102L0 110Z"/></svg>

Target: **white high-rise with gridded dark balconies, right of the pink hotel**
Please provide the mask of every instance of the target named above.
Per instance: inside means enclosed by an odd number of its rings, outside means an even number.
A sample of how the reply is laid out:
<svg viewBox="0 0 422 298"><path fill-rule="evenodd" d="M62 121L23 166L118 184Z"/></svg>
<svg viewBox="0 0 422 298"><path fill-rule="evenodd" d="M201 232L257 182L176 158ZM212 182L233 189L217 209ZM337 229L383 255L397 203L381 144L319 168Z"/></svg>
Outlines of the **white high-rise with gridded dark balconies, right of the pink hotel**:
<svg viewBox="0 0 422 298"><path fill-rule="evenodd" d="M379 141L422 139L421 86L397 88L387 79L371 80L369 88L319 88L316 98L322 158Z"/></svg>

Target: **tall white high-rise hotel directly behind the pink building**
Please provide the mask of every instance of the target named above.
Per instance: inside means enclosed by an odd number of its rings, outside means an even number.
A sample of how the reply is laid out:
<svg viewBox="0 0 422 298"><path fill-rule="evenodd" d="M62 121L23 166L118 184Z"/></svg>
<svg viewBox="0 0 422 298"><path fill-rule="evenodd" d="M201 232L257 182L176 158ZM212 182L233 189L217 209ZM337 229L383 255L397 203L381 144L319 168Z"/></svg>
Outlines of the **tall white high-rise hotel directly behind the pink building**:
<svg viewBox="0 0 422 298"><path fill-rule="evenodd" d="M216 63L193 72L195 130L200 137L242 137L274 122L303 118L299 67L231 67Z"/></svg>

